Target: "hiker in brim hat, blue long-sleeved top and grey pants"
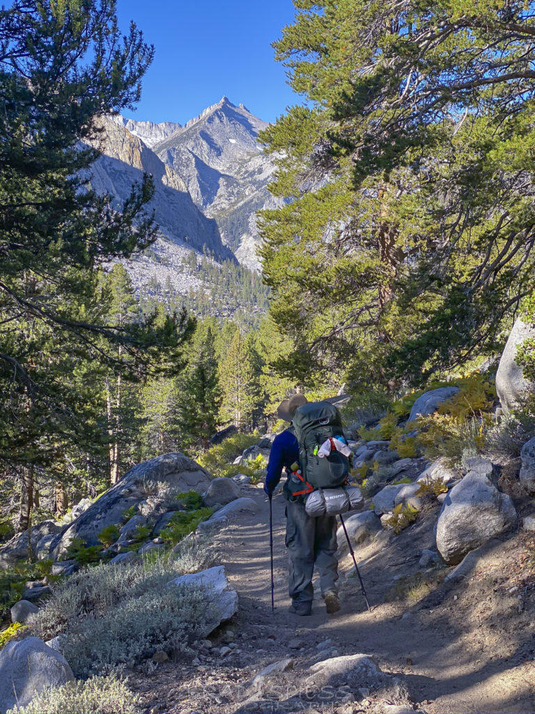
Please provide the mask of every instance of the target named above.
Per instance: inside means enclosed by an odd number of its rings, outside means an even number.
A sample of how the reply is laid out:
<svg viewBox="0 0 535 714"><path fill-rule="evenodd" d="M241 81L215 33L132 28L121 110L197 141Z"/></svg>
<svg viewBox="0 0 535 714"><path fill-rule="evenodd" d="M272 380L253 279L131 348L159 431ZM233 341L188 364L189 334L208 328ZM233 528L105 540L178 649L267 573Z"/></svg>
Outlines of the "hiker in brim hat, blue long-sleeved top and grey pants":
<svg viewBox="0 0 535 714"><path fill-rule="evenodd" d="M299 446L291 425L297 407L307 404L302 394L285 399L277 409L277 416L290 422L290 427L275 437L267 463L264 491L271 498L286 468L287 476L299 463ZM320 588L327 613L340 610L336 582L338 561L336 558L336 516L312 518L305 512L304 499L292 496L288 481L283 493L286 501L286 547L290 555L289 592L292 598L290 613L310 615L312 612L312 574L314 565L320 573ZM292 500L290 500L292 496Z"/></svg>

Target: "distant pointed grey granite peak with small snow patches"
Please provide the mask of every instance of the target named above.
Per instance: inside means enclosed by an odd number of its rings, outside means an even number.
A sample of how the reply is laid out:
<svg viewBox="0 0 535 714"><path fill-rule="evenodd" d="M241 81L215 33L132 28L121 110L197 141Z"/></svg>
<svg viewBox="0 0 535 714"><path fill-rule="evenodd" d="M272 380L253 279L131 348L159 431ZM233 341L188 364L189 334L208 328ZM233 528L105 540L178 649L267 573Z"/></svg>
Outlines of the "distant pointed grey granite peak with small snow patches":
<svg viewBox="0 0 535 714"><path fill-rule="evenodd" d="M223 243L252 268L259 266L255 212L280 205L267 191L275 166L258 142L267 126L224 96L153 145L183 178L198 208L218 223Z"/></svg>

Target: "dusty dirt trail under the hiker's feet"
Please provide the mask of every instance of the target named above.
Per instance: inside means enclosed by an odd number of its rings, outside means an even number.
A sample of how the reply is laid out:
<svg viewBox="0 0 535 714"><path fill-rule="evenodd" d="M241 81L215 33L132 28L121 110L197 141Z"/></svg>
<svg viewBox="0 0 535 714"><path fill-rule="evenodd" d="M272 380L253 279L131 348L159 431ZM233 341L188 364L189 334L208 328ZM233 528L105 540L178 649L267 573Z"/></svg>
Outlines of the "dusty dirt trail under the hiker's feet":
<svg viewBox="0 0 535 714"><path fill-rule="evenodd" d="M534 563L529 560L530 550L531 557L534 554L534 535L531 540L526 535L495 540L472 577L447 588L442 584L444 571L430 570L414 580L419 553L432 547L429 541L436 513L429 513L396 538L388 540L382 532L367 548L357 548L374 605L371 613L357 578L342 575L340 613L327 615L317 593L312 615L297 618L287 612L283 498L273 500L272 613L267 498L253 487L245 495L254 498L260 510L255 515L242 513L216 543L219 562L225 564L230 583L238 591L240 611L230 632L223 630L215 643L231 641L235 648L225 658L208 655L197 666L165 663L152 675L136 675L136 689L147 711L291 711L284 698L262 706L257 701L248 708L240 696L256 672L277 660L293 658L296 670L317 662L321 656L317 645L330 639L330 656L365 653L385 673L401 678L415 710L429 714L535 712L535 578ZM341 573L348 573L351 565L348 557L343 558ZM416 583L409 596L403 590L406 583ZM399 593L402 599L394 599ZM302 649L290 648L295 638L302 640ZM372 696L361 699L302 710L354 714L381 711L384 706Z"/></svg>

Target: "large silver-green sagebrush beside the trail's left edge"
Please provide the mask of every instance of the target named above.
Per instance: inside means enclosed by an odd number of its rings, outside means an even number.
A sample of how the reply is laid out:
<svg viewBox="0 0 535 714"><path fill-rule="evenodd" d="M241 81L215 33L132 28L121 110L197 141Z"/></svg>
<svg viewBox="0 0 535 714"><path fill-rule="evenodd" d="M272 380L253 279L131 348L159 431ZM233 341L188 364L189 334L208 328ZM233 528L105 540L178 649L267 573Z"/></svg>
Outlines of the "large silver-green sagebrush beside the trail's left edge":
<svg viewBox="0 0 535 714"><path fill-rule="evenodd" d="M81 570L54 588L29 634L45 640L66 635L63 652L81 678L139 663L156 649L184 650L210 619L210 598L200 588L165 585L208 567L208 552L191 545L176 557Z"/></svg>

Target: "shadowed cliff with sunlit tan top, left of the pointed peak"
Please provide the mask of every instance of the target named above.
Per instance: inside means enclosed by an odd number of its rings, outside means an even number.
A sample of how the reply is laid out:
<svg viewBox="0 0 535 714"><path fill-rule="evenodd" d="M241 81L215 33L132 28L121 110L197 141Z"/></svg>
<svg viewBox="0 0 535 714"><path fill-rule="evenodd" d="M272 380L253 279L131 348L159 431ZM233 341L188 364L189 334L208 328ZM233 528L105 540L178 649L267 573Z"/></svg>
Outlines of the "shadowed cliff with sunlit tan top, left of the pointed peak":
<svg viewBox="0 0 535 714"><path fill-rule="evenodd" d="M221 241L217 224L195 206L185 182L173 168L126 129L122 117L101 121L102 156L91 167L93 188L98 193L110 194L121 205L134 181L140 181L143 173L151 174L155 191L146 211L155 212L162 238L197 251L206 246L220 260L233 259L232 251Z"/></svg>

